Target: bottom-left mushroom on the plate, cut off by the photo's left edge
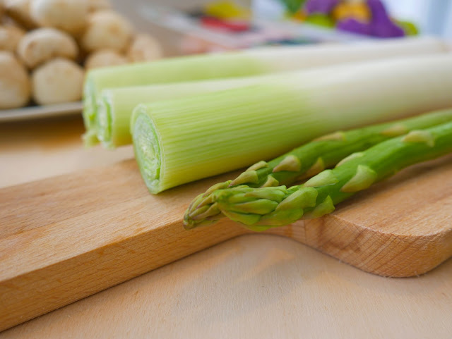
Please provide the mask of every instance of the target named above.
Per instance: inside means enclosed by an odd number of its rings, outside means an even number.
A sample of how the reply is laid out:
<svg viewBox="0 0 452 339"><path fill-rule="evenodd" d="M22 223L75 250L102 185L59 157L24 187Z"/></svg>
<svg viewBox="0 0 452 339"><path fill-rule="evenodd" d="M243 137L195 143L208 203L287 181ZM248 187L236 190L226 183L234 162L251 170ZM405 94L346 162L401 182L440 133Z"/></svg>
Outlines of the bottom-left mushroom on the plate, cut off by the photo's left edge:
<svg viewBox="0 0 452 339"><path fill-rule="evenodd" d="M0 109L25 106L30 100L30 78L14 55L0 51Z"/></svg>

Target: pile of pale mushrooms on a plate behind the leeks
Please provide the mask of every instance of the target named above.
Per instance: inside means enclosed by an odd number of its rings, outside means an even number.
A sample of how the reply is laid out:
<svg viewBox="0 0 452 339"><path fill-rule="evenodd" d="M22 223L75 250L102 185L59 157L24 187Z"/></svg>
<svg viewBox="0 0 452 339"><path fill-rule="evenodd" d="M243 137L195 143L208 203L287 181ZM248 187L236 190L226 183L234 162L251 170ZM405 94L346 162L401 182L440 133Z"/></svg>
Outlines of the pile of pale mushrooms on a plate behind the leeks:
<svg viewBox="0 0 452 339"><path fill-rule="evenodd" d="M85 70L161 57L108 0L0 0L0 109L78 101Z"/></svg>

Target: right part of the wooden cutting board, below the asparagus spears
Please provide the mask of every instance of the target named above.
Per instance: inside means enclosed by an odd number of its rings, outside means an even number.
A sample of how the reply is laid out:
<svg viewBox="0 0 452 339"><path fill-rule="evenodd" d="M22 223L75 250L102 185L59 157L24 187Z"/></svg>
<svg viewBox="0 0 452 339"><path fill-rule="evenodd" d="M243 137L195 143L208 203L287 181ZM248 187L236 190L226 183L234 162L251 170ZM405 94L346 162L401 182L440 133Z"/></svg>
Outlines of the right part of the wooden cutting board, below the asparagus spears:
<svg viewBox="0 0 452 339"><path fill-rule="evenodd" d="M412 166L324 218L275 229L380 276L418 276L452 256L452 156Z"/></svg>

